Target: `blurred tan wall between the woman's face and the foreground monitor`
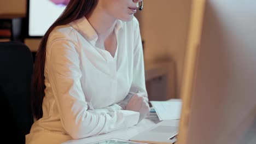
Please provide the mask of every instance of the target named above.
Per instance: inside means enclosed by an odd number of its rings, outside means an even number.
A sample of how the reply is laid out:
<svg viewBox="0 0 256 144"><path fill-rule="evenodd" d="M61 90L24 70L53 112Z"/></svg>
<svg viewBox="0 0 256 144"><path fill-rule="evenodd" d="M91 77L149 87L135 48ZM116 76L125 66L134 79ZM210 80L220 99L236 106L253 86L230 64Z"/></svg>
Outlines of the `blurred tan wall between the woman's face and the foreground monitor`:
<svg viewBox="0 0 256 144"><path fill-rule="evenodd" d="M187 46L190 5L190 0L144 1L144 9L137 14L145 41L146 61L172 59L176 63L177 97Z"/></svg>

